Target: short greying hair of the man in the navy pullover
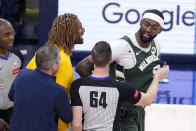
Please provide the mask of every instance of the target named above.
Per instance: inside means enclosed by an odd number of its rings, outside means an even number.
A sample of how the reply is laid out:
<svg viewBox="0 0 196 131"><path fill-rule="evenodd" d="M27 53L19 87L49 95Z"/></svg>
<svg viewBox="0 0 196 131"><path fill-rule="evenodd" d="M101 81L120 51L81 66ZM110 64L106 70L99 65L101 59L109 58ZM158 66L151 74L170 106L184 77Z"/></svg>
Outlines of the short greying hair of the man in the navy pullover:
<svg viewBox="0 0 196 131"><path fill-rule="evenodd" d="M35 63L38 69L49 70L59 59L59 49L52 45L45 45L37 50Z"/></svg>

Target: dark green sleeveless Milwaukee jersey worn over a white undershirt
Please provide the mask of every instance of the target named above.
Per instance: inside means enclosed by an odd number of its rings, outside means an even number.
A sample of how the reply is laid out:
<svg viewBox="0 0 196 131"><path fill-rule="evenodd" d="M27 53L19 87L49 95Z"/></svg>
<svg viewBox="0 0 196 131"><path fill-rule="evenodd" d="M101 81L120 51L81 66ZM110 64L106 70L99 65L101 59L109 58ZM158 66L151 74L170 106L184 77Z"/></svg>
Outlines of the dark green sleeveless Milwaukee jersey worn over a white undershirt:
<svg viewBox="0 0 196 131"><path fill-rule="evenodd" d="M124 69L124 81L132 83L137 90L146 92L152 82L154 71L163 66L163 62L157 56L157 47L154 41L152 41L150 50L144 52L136 47L128 36L124 36L121 39L129 43L134 52L132 54L136 58L136 64L133 68ZM115 75L112 71L114 69L114 65L111 65L110 74L112 76Z"/></svg>

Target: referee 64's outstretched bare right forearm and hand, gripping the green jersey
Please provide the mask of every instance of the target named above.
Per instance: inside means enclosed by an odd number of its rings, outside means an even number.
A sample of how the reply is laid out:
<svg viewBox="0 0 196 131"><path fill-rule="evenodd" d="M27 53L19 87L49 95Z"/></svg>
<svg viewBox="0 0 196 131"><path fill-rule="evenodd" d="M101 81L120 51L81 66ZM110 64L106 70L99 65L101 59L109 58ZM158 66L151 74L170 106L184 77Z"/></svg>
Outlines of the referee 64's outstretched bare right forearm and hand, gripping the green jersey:
<svg viewBox="0 0 196 131"><path fill-rule="evenodd" d="M159 81L167 78L169 72L169 66L164 65L159 68L153 78L151 85L149 86L146 93L141 94L141 99L135 104L137 106L149 106L152 104L158 90Z"/></svg>

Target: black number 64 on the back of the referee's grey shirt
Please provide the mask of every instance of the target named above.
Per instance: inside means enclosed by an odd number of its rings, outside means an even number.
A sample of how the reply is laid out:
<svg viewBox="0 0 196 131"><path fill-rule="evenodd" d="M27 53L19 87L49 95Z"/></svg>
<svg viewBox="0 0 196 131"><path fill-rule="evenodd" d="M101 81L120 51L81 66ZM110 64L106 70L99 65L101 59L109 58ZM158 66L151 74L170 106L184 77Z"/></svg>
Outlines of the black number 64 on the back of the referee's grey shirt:
<svg viewBox="0 0 196 131"><path fill-rule="evenodd" d="M101 92L100 98L98 98L98 92L97 91L91 91L90 92L90 106L91 107L98 107L102 106L103 108L106 108L106 92Z"/></svg>

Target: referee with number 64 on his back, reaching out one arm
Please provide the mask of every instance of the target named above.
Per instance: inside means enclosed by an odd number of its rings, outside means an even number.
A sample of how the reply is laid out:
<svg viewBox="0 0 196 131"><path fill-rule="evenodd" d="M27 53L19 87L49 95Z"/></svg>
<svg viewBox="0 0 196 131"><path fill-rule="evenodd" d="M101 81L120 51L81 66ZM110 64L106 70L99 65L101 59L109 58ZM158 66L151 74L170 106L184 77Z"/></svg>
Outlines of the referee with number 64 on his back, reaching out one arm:
<svg viewBox="0 0 196 131"><path fill-rule="evenodd" d="M129 101L136 106L151 105L158 90L159 80L168 75L168 66L159 68L148 91L139 92L128 83L110 78L111 54L107 42L96 43L89 57L94 64L93 74L72 83L72 131L120 131L121 102Z"/></svg>

